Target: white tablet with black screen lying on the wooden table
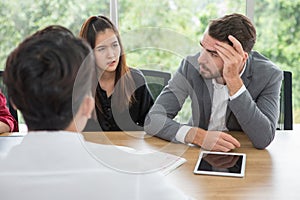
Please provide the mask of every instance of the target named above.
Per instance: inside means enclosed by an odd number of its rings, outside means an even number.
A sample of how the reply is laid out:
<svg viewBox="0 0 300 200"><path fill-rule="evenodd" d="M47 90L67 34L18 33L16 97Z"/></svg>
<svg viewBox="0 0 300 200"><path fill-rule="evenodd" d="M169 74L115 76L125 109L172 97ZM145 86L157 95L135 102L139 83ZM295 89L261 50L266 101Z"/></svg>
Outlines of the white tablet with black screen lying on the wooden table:
<svg viewBox="0 0 300 200"><path fill-rule="evenodd" d="M195 174L244 177L246 154L202 151Z"/></svg>

